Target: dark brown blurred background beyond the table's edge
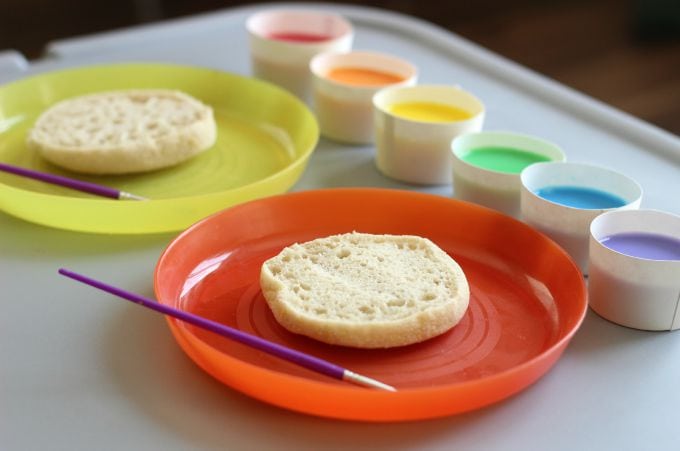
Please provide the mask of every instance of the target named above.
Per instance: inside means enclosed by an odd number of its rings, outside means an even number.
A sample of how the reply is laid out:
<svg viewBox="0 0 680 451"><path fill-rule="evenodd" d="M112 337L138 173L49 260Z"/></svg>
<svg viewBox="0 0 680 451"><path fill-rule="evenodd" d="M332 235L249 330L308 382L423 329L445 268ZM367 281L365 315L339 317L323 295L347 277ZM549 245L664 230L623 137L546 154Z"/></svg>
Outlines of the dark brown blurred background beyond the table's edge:
<svg viewBox="0 0 680 451"><path fill-rule="evenodd" d="M253 2L1 0L0 49ZM344 1L410 14L680 134L680 0Z"/></svg>

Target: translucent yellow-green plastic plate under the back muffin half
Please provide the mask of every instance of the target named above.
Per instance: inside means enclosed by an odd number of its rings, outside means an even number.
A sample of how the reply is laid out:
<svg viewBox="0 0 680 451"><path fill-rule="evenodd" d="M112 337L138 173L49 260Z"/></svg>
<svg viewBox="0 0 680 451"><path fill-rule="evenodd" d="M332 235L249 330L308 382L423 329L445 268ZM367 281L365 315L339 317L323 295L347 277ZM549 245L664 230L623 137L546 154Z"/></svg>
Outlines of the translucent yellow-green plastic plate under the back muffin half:
<svg viewBox="0 0 680 451"><path fill-rule="evenodd" d="M218 137L175 167L124 176L62 170L29 150L26 134L53 103L130 88L179 89L211 105ZM97 233L160 233L244 201L288 190L319 138L313 114L271 84L218 70L165 65L89 66L0 86L0 161L148 197L120 201L0 173L0 210L35 223Z"/></svg>

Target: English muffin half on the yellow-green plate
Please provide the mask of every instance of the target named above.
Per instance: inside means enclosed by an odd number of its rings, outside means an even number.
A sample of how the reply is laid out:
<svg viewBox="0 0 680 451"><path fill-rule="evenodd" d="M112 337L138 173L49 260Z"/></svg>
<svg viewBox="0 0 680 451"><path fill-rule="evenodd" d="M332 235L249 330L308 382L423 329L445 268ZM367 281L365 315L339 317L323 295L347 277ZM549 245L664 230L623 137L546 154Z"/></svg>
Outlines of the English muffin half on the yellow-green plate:
<svg viewBox="0 0 680 451"><path fill-rule="evenodd" d="M122 174L172 166L215 143L212 108L176 90L107 91L43 112L27 143L77 172Z"/></svg>

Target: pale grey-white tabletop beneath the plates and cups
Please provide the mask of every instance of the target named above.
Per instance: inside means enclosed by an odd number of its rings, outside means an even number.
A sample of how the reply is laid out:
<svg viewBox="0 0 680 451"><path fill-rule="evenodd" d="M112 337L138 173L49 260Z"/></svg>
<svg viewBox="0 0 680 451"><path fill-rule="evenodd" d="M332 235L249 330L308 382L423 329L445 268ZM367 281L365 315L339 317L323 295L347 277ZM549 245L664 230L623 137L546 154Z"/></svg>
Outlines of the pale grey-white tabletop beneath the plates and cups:
<svg viewBox="0 0 680 451"><path fill-rule="evenodd" d="M49 45L28 64L0 52L0 82L63 67L163 61L249 75L251 6ZM488 109L486 129L542 136L571 161L637 179L644 208L680 213L680 140L422 21L314 5L355 24L355 48L399 54L420 81L456 83ZM0 138L1 139L1 138ZM295 190L416 189L382 177L371 147L321 140ZM450 187L423 191L448 196ZM561 360L495 405L442 419L365 424L253 400L201 371L156 314L57 275L86 272L153 296L175 234L109 236L0 213L0 449L680 449L680 333L623 328L589 312Z"/></svg>

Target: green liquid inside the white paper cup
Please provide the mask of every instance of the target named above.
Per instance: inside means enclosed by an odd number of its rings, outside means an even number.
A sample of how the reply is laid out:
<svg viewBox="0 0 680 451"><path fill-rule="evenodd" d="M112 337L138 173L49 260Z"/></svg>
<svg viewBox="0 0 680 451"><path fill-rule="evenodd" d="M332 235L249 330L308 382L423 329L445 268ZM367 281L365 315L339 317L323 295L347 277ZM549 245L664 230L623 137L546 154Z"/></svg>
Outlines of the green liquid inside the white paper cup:
<svg viewBox="0 0 680 451"><path fill-rule="evenodd" d="M477 147L461 155L461 160L491 171L519 174L533 163L552 161L549 157L513 147Z"/></svg>

